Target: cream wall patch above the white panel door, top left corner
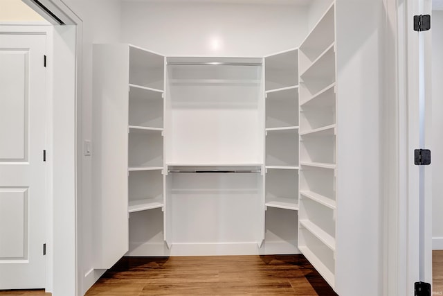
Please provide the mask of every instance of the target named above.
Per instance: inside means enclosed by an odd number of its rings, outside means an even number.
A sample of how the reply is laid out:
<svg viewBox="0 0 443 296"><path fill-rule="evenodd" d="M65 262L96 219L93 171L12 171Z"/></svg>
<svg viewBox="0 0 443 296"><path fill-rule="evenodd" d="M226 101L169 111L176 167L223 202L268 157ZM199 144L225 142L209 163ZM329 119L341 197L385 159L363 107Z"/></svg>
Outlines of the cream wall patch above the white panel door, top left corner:
<svg viewBox="0 0 443 296"><path fill-rule="evenodd" d="M1 0L0 21L45 21L45 19L21 0Z"/></svg>

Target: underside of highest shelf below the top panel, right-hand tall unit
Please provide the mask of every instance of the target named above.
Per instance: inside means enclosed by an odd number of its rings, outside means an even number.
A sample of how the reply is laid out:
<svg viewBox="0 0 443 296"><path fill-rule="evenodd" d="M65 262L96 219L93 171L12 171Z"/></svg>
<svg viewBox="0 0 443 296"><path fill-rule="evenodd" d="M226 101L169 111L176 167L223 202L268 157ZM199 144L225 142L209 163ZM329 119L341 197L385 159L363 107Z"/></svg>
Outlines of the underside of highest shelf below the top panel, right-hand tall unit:
<svg viewBox="0 0 443 296"><path fill-rule="evenodd" d="M307 77L331 77L335 73L335 42L332 43L320 56L312 62L300 75Z"/></svg>

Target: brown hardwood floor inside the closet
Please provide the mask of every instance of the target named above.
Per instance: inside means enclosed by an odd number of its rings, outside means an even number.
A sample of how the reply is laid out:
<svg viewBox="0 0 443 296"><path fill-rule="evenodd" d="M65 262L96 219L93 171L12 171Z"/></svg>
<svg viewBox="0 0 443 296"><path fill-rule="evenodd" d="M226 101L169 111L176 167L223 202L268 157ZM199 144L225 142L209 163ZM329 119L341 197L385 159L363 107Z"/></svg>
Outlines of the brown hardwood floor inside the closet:
<svg viewBox="0 0 443 296"><path fill-rule="evenodd" d="M40 296L42 294L3 294ZM336 296L302 255L124 257L87 296Z"/></svg>

